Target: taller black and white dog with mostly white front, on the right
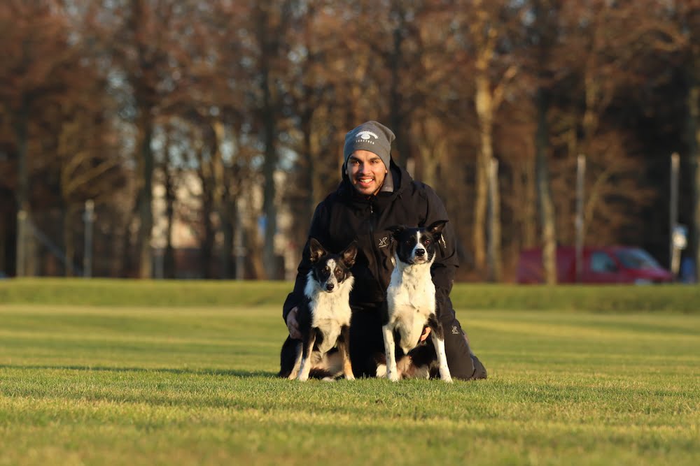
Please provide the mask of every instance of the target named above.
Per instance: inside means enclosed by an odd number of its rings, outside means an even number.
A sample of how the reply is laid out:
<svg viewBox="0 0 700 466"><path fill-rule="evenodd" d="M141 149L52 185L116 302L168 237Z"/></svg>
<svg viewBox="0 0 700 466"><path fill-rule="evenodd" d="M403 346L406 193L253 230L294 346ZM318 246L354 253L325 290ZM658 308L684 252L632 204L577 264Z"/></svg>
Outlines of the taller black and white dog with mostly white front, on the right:
<svg viewBox="0 0 700 466"><path fill-rule="evenodd" d="M395 242L395 267L386 289L386 316L381 330L384 335L386 377L391 381L401 378L430 377L430 362L413 360L409 351L419 346L421 335L430 327L430 337L437 354L440 379L451 382L444 352L444 333L436 314L435 284L430 266L435 261L438 243L442 239L445 220L435 221L427 228L394 226L390 228ZM396 344L406 355L396 363ZM416 350L424 359L426 351ZM430 351L432 358L435 354ZM418 356L416 354L416 356ZM380 370L377 370L377 375Z"/></svg>

